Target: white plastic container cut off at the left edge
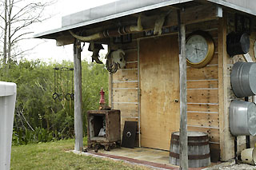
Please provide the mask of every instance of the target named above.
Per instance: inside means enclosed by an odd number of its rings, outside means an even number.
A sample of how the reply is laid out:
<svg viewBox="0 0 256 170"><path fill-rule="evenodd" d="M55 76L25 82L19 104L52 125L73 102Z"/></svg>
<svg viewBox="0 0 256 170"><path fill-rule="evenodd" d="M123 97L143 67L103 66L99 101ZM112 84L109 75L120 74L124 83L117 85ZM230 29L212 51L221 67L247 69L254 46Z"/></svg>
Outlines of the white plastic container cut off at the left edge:
<svg viewBox="0 0 256 170"><path fill-rule="evenodd" d="M16 84L0 81L0 169L10 169Z"/></svg>

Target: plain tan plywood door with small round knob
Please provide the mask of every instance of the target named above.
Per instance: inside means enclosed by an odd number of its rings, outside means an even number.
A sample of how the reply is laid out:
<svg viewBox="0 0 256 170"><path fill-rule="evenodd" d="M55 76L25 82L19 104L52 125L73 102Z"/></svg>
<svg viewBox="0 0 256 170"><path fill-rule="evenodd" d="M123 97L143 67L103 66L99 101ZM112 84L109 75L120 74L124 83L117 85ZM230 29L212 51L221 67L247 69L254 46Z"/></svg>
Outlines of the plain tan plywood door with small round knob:
<svg viewBox="0 0 256 170"><path fill-rule="evenodd" d="M139 42L141 145L170 149L171 132L179 129L178 37Z"/></svg>

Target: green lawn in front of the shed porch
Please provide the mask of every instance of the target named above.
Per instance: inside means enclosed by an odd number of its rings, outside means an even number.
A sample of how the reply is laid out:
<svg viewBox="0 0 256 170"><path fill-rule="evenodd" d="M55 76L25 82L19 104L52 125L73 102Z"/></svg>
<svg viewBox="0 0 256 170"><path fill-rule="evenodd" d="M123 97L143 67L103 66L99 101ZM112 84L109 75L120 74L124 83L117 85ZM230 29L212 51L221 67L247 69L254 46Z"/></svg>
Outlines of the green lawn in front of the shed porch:
<svg viewBox="0 0 256 170"><path fill-rule="evenodd" d="M145 169L123 161L78 156L74 140L12 146L10 169Z"/></svg>

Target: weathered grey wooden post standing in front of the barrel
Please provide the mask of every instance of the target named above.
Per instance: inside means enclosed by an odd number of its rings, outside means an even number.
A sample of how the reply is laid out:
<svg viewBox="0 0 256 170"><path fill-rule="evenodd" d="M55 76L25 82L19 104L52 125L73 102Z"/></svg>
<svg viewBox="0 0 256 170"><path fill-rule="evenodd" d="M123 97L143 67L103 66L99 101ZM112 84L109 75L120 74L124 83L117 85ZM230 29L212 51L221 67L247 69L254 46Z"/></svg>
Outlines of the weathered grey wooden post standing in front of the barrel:
<svg viewBox="0 0 256 170"><path fill-rule="evenodd" d="M180 169L188 169L187 155L187 123L186 123L186 27L181 23L178 10L178 40L179 40L179 86L180 86Z"/></svg>

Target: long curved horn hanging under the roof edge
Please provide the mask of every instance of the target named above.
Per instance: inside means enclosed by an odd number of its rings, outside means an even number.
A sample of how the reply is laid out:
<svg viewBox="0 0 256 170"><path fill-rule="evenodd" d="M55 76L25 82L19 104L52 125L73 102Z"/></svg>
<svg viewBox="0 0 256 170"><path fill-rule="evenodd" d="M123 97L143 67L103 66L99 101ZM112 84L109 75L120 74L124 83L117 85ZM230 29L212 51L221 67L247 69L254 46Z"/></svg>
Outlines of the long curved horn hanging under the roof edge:
<svg viewBox="0 0 256 170"><path fill-rule="evenodd" d="M70 34L74 38L77 38L78 40L81 40L82 42L90 42L92 40L96 40L96 39L100 39L100 38L117 37L119 35L141 32L142 30L143 30L142 19L141 19L141 16L139 16L138 21L137 21L137 26L122 26L122 27L118 27L118 29L104 30L101 33L92 34L92 35L89 35L86 37L74 34L71 30L70 30Z"/></svg>

